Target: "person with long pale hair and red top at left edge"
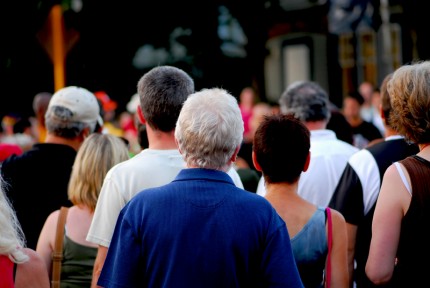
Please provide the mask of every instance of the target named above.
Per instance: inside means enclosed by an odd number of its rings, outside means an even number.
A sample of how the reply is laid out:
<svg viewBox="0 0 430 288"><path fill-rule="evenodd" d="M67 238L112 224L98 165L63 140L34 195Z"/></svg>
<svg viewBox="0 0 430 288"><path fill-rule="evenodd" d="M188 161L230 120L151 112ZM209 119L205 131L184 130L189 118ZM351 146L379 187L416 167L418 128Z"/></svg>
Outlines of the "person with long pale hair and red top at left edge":
<svg viewBox="0 0 430 288"><path fill-rule="evenodd" d="M25 248L24 234L0 178L0 287L49 287L42 258Z"/></svg>

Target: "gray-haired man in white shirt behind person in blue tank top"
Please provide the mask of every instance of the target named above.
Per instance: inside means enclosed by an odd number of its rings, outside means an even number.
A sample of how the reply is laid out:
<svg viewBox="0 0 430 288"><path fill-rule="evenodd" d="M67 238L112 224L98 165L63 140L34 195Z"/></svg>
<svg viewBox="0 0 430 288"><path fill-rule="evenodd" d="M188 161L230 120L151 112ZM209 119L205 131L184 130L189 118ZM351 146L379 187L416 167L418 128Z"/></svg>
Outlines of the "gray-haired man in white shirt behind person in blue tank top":
<svg viewBox="0 0 430 288"><path fill-rule="evenodd" d="M329 98L316 82L290 84L279 99L281 113L300 119L311 132L311 162L300 177L298 193L309 202L326 207L333 195L349 157L358 148L336 138L326 128L330 120ZM266 194L260 179L257 194Z"/></svg>

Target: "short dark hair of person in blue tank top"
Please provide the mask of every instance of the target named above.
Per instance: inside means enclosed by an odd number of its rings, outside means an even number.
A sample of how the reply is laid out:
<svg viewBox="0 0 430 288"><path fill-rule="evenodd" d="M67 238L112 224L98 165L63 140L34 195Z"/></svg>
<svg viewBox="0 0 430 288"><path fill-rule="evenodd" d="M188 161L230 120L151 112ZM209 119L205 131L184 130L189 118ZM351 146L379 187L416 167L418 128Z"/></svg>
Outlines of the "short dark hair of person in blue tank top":
<svg viewBox="0 0 430 288"><path fill-rule="evenodd" d="M253 151L267 183L294 183L309 155L309 129L292 115L265 116L255 132Z"/></svg>

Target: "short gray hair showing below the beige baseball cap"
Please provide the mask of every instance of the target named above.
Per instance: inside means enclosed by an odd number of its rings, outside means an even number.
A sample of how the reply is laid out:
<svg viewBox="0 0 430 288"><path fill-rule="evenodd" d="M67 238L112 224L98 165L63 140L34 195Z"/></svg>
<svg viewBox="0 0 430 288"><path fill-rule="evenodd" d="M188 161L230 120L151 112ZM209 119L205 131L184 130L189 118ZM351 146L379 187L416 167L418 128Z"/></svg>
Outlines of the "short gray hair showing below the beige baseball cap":
<svg viewBox="0 0 430 288"><path fill-rule="evenodd" d="M72 111L65 107L53 106L45 115L45 126L48 132L56 136L73 139L77 137L85 128L90 128L94 132L97 122L87 124L83 122L71 121Z"/></svg>

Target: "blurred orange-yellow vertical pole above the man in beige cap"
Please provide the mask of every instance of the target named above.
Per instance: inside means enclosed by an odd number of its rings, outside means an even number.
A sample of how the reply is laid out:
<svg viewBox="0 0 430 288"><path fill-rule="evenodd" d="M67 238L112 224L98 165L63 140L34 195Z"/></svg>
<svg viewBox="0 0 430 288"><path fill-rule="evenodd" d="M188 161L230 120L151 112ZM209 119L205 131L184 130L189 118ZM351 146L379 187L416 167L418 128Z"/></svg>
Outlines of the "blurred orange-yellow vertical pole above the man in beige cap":
<svg viewBox="0 0 430 288"><path fill-rule="evenodd" d="M65 86L65 50L63 9L60 4L51 8L52 62L54 64L55 91Z"/></svg>

